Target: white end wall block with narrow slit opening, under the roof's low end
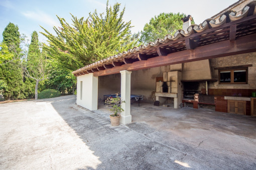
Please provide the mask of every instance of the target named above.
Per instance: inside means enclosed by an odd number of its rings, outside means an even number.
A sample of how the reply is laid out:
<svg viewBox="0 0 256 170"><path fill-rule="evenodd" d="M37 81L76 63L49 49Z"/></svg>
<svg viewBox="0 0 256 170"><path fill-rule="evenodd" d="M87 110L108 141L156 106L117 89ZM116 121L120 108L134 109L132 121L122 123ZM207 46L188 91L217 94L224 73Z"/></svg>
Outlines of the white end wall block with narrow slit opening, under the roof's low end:
<svg viewBox="0 0 256 170"><path fill-rule="evenodd" d="M82 81L82 94L81 94ZM76 102L78 105L89 110L98 109L98 77L93 73L77 76L77 95ZM81 99L82 95L82 99Z"/></svg>

